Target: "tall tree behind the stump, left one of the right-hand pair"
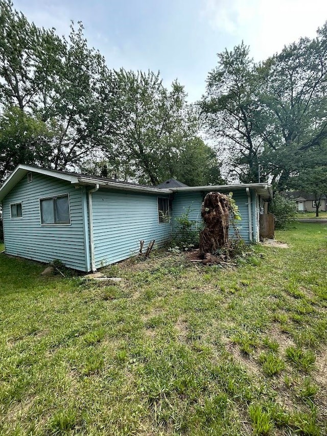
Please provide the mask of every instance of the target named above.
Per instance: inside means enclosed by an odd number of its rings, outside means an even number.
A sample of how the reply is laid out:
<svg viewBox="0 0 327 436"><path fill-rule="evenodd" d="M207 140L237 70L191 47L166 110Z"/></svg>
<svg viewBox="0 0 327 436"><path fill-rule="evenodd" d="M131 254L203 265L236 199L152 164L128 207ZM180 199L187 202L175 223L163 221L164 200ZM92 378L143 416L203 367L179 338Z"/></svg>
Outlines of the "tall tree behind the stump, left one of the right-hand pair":
<svg viewBox="0 0 327 436"><path fill-rule="evenodd" d="M230 169L244 182L258 181L262 143L258 135L261 107L256 98L259 76L243 42L217 56L218 66L209 72L206 94L200 102L205 124L215 138L220 138Z"/></svg>

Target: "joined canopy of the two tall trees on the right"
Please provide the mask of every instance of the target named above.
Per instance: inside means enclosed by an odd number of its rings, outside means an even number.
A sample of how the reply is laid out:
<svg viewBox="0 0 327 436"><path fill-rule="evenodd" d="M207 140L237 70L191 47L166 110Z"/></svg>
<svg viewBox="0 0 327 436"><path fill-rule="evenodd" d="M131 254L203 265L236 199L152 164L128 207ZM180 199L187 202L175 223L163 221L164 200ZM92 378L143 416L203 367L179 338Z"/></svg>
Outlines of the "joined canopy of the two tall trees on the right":
<svg viewBox="0 0 327 436"><path fill-rule="evenodd" d="M218 54L200 102L208 131L241 181L290 188L327 155L327 24L256 64L243 43ZM323 162L322 162L323 161Z"/></svg>

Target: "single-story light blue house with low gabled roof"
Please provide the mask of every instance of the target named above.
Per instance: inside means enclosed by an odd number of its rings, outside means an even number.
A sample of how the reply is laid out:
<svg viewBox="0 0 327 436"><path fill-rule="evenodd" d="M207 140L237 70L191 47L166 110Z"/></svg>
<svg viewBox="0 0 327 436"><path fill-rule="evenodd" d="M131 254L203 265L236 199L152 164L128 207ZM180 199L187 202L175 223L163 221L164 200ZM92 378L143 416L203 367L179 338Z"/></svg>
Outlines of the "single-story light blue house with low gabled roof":
<svg viewBox="0 0 327 436"><path fill-rule="evenodd" d="M0 188L5 253L96 271L147 245L166 243L176 217L189 209L201 222L209 191L232 192L246 243L259 241L259 214L272 196L267 183L189 187L178 181L159 186L18 165Z"/></svg>

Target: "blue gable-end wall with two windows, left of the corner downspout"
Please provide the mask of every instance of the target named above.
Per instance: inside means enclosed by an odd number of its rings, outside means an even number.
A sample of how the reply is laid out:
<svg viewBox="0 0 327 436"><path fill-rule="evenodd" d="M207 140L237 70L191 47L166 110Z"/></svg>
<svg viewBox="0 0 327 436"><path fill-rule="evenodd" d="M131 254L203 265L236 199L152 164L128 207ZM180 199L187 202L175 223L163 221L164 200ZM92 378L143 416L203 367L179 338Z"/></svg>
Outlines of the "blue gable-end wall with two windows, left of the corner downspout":
<svg viewBox="0 0 327 436"><path fill-rule="evenodd" d="M69 194L71 224L42 226L39 199L65 193ZM59 259L69 268L86 271L83 195L85 190L53 177L33 173L31 183L27 176L22 178L3 200L6 253L41 262ZM10 204L20 202L22 218L11 219Z"/></svg>

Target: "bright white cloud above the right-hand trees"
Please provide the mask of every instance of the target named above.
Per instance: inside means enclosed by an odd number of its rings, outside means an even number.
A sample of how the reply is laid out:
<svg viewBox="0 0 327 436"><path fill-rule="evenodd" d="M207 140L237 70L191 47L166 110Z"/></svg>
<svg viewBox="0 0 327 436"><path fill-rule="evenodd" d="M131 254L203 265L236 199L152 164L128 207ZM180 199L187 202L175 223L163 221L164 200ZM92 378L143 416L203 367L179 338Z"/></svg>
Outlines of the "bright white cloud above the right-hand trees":
<svg viewBox="0 0 327 436"><path fill-rule="evenodd" d="M280 51L301 36L315 36L327 19L325 0L204 0L209 25L250 45L255 60ZM231 47L228 47L231 48Z"/></svg>

